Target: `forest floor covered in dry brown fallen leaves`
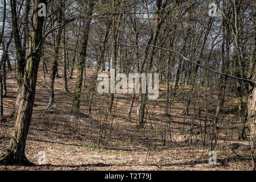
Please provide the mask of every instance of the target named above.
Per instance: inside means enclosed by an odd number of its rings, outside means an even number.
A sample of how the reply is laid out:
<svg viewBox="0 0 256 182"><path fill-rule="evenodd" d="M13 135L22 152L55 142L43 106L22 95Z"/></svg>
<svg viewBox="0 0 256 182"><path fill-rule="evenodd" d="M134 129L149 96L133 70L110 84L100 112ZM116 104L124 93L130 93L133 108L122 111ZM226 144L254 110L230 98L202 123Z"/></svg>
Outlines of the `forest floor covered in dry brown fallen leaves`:
<svg viewBox="0 0 256 182"><path fill-rule="evenodd" d="M59 71L59 75L62 72ZM68 88L76 82L68 78ZM86 70L86 78L92 78L93 71ZM69 73L68 73L69 76ZM49 74L46 74L48 81ZM5 117L11 113L16 97L15 73L7 75L7 98L3 100ZM210 117L204 112L200 118L182 113L183 102L177 100L170 116L164 115L164 102L148 104L145 129L136 128L138 97L136 97L131 122L125 120L131 96L115 94L112 115L104 121L104 111L108 106L108 94L96 94L92 114L87 115L89 100L85 85L80 113L72 113L72 94L64 93L63 78L55 80L57 110L46 109L49 100L49 86L43 84L43 69L40 67L34 112L26 143L26 156L37 166L0 166L0 170L249 170L251 168L249 139L237 140L236 115L222 115L230 129L220 130L218 143L214 148L217 164L209 164L209 141L203 144L205 127L199 127ZM160 85L164 90L164 85ZM164 93L164 92L163 92ZM196 100L196 99L195 99ZM236 105L233 102L233 105ZM232 105L232 106L233 106ZM207 107L214 107L209 104ZM209 108L210 109L210 108ZM195 113L194 113L195 114ZM15 119L7 118L0 123L0 156L5 154ZM225 125L226 126L226 125ZM193 127L191 129L191 127ZM101 130L100 130L101 129ZM190 129L190 130L189 130ZM205 130L204 133L202 133ZM199 131L200 130L200 131ZM208 129L207 129L208 130ZM193 132L192 132L193 131ZM204 137L205 138L205 137ZM248 138L248 137L247 137ZM38 159L44 151L46 165L39 165Z"/></svg>

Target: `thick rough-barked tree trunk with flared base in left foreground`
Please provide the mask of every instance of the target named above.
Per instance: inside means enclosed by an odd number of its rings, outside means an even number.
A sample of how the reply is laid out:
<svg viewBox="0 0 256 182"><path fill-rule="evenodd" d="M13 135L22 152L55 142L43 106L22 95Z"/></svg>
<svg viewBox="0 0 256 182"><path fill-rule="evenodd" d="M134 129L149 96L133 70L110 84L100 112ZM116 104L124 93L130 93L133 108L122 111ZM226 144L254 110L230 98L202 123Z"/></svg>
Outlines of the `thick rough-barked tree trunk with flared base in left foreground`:
<svg viewBox="0 0 256 182"><path fill-rule="evenodd" d="M47 2L46 0L34 0L28 59L20 92L23 99L20 100L14 131L10 139L7 153L1 157L2 160L0 160L0 164L32 164L25 156L25 147L35 100L36 78L41 56L40 40L42 39L44 17L38 16L39 3L46 4Z"/></svg>

